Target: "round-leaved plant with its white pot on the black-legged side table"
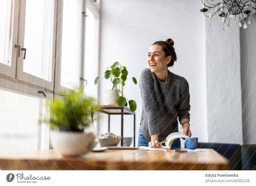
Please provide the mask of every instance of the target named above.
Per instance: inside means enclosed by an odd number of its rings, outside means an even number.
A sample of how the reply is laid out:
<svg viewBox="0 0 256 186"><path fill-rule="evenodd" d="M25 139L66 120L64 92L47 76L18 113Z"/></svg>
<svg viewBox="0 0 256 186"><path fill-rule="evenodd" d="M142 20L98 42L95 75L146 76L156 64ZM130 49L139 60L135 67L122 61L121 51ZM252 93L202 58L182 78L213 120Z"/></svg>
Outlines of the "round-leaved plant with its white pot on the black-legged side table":
<svg viewBox="0 0 256 186"><path fill-rule="evenodd" d="M104 101L106 105L108 105L108 103L112 103L115 105L115 103L117 103L119 106L123 107L125 105L127 105L127 97L124 96L124 91L123 91L123 87L125 86L125 81L129 78L127 78L128 75L128 71L126 69L125 66L121 66L121 64L119 64L118 62L115 62L111 67L108 67L107 70L105 71L105 79L109 79L113 84L112 89L110 90L106 90L105 93L105 97L108 98L107 101ZM131 78L132 81L137 84L137 80L135 77ZM96 85L100 80L100 77L96 77L94 84ZM119 85L119 88L118 88ZM120 85L121 85L121 89L120 89ZM115 88L115 89L114 89ZM104 98L104 100L106 100ZM107 102L107 103L106 103ZM130 110L131 111L135 111L137 108L137 104L134 100L128 100L129 106L130 106Z"/></svg>

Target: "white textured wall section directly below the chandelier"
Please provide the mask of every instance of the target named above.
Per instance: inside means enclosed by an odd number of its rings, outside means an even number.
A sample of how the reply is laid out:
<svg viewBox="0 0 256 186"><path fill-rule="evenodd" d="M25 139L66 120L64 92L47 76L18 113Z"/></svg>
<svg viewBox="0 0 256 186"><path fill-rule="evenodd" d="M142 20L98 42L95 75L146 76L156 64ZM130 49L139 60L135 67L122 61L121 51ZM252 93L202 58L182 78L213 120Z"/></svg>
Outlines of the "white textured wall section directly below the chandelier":
<svg viewBox="0 0 256 186"><path fill-rule="evenodd" d="M209 142L242 143L239 28L222 30L218 15L205 23Z"/></svg>

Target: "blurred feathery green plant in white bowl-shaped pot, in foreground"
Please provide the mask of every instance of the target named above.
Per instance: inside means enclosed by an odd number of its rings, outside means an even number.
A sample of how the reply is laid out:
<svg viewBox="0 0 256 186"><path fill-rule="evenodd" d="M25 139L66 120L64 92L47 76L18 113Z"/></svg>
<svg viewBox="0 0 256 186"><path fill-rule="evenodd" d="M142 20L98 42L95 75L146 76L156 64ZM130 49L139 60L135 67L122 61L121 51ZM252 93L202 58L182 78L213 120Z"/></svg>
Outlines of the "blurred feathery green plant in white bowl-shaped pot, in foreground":
<svg viewBox="0 0 256 186"><path fill-rule="evenodd" d="M48 124L52 126L52 147L62 155L85 154L94 146L94 133L86 129L92 125L93 113L99 108L93 107L97 100L88 97L83 87L68 90L60 97L47 103L50 109Z"/></svg>

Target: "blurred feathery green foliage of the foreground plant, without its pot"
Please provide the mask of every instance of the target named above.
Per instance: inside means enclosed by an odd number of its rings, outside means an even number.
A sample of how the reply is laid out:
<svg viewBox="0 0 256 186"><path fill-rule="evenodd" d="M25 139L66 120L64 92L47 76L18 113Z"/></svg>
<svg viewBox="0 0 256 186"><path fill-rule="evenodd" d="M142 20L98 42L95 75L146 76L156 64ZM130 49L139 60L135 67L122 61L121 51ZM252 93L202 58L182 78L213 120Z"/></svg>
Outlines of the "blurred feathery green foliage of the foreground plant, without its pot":
<svg viewBox="0 0 256 186"><path fill-rule="evenodd" d="M93 114L99 111L94 107L97 100L84 94L83 87L65 91L47 103L50 109L48 123L53 128L67 128L70 131L82 130L93 122Z"/></svg>

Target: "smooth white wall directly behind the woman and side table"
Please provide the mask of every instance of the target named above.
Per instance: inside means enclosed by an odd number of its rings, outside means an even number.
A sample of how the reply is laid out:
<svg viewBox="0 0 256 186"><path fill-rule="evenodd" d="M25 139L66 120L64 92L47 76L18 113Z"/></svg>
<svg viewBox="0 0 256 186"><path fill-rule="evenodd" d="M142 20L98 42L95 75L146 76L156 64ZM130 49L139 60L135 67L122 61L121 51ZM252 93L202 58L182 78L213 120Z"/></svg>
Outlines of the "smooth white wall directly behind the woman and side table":
<svg viewBox="0 0 256 186"><path fill-rule="evenodd" d="M190 86L191 131L199 141L207 141L206 72L205 72L205 17L201 2L197 1L102 1L100 76L115 61L128 69L129 77L140 78L143 68L148 68L147 52L152 43L172 38L178 61L169 68L184 76ZM100 81L100 99L103 90L111 89L111 82ZM127 80L124 94L137 102L136 144L141 116L139 85ZM108 130L107 114L102 115L99 133ZM120 134L120 116L111 116L111 131ZM124 116L124 136L132 136L133 117ZM180 128L181 131L181 128Z"/></svg>

